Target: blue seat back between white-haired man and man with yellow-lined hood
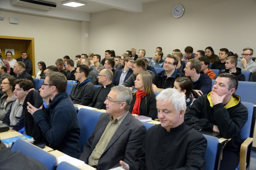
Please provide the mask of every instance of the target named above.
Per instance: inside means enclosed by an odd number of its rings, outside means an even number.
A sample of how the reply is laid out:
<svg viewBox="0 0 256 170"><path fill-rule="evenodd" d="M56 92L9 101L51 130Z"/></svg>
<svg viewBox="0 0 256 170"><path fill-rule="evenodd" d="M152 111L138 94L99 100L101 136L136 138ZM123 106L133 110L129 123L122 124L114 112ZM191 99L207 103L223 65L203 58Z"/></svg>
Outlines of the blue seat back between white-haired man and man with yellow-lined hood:
<svg viewBox="0 0 256 170"><path fill-rule="evenodd" d="M205 169L215 169L215 166L218 167L216 163L217 151L219 146L219 140L215 136L203 135L207 140L207 148L205 151L206 160Z"/></svg>

